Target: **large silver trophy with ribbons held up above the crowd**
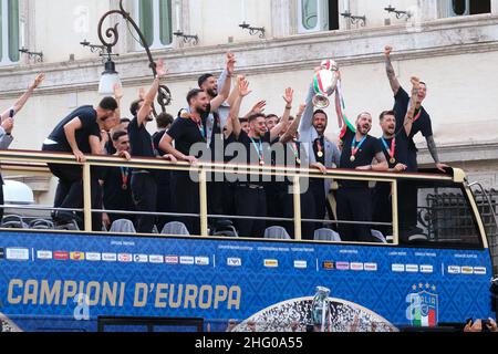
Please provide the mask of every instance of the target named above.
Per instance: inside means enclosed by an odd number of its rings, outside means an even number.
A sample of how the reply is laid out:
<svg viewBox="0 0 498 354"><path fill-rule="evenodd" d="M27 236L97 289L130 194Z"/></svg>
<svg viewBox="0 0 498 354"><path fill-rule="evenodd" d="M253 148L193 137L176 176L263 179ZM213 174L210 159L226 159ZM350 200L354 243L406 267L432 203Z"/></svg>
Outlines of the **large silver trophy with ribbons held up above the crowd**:
<svg viewBox="0 0 498 354"><path fill-rule="evenodd" d="M331 96L339 81L339 66L333 60L324 60L320 65L320 70L317 70L313 77L313 87L315 96L313 98L313 105L319 110L329 107Z"/></svg>

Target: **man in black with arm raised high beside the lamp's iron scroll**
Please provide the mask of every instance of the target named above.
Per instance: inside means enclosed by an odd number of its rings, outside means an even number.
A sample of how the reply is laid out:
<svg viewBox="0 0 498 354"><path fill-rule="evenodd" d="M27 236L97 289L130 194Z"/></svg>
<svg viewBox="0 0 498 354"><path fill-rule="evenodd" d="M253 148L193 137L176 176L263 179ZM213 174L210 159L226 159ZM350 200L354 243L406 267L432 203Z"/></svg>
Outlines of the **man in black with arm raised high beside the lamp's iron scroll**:
<svg viewBox="0 0 498 354"><path fill-rule="evenodd" d="M157 75L145 98L132 103L131 113L134 116L128 126L128 136L132 156L156 157L154 142L148 133L147 123L153 118L153 102L159 90L160 79L166 75L164 62L159 60L156 65ZM165 156L170 159L170 156ZM157 181L155 171L148 169L134 169L132 171L132 194L137 211L149 212L136 217L136 231L138 233L151 233L154 229L156 217L154 212L157 207Z"/></svg>

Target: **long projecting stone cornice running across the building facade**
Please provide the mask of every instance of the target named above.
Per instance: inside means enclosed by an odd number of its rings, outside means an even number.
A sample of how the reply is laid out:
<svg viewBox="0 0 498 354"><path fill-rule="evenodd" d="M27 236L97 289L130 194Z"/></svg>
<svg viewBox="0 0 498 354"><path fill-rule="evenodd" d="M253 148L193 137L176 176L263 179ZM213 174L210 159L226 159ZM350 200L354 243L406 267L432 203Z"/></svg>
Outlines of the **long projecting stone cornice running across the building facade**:
<svg viewBox="0 0 498 354"><path fill-rule="evenodd" d="M365 28L299 34L280 39L216 46L181 48L155 51L155 58L166 60L167 82L196 80L200 73L219 72L225 53L237 53L238 67L246 74L282 73L311 70L324 58L334 58L341 66L380 63L382 50L392 44L396 61L498 51L498 15L484 14L440 19L422 24L422 32L408 32L404 25ZM151 81L144 53L122 54L117 70L123 83L138 86ZM37 72L44 71L46 80L38 95L76 91L96 91L103 65L100 59L74 62L0 69L0 94L18 96Z"/></svg>

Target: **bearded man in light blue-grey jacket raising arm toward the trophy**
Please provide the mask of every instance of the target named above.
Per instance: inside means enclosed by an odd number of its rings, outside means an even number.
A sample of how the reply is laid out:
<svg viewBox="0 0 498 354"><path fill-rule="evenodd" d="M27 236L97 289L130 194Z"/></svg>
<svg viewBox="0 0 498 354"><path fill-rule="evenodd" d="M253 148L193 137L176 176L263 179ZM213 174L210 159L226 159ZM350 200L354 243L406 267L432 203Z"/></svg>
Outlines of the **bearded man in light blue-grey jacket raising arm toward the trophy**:
<svg viewBox="0 0 498 354"><path fill-rule="evenodd" d="M325 137L329 117L322 110L313 112L313 97L314 90L313 85L311 85L307 97L307 108L299 127L299 138L310 157L310 167L318 168L323 174L326 174L328 169L339 166L341 154L335 144ZM324 220L326 211L329 211L329 217L333 219L332 210L328 207L330 187L330 179L310 179L310 190L313 194L315 205L315 215L313 217L315 220ZM322 222L315 225L315 229L321 227Z"/></svg>

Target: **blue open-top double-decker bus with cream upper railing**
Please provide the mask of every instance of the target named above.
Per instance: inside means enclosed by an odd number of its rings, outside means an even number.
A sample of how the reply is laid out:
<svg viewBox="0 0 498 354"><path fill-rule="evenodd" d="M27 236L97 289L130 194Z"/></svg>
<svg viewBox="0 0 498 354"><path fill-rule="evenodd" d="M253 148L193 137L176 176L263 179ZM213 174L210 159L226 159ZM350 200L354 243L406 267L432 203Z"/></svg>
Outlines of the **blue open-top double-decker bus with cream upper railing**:
<svg viewBox="0 0 498 354"><path fill-rule="evenodd" d="M70 155L29 152L2 152L0 159L4 167L24 170L46 163L76 164ZM201 235L92 232L92 212L104 210L91 209L90 180L94 168L103 166L197 176L199 189L191 192L198 195L200 209L189 217L199 222ZM238 237L231 227L214 230L212 220L237 223L248 217L208 215L207 180L212 173L289 178L293 218L266 218L266 235L253 238ZM4 206L4 220L10 221L0 230L3 330L395 332L496 317L488 238L463 170L333 169L323 175L297 168L89 157L83 176L81 230L50 227L51 207ZM375 241L343 241L334 231L357 220L302 220L307 206L301 205L300 190L309 178L332 180L332 210L334 189L343 180L369 183L372 191L388 185L387 222L367 222ZM408 208L398 198L401 189L415 191ZM411 235L402 232L405 212L414 212L409 217L416 220ZM45 223L40 222L43 217ZM292 238L278 227L282 222L293 226ZM303 222L321 222L323 228L303 240Z"/></svg>

